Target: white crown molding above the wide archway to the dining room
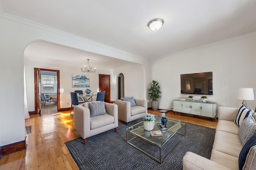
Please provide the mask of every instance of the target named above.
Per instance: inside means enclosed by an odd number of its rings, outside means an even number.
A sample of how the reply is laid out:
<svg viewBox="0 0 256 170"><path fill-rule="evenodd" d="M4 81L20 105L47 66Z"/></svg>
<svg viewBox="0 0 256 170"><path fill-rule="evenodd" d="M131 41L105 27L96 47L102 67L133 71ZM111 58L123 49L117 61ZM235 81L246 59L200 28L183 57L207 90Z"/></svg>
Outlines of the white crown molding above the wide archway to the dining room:
<svg viewBox="0 0 256 170"><path fill-rule="evenodd" d="M0 8L0 11L1 11L1 8ZM94 45L94 46L98 46L99 48L104 48L106 50L110 50L110 51L113 51L113 52L117 52L117 53L120 53L120 54L123 54L125 56L128 56L128 57L134 57L134 58L137 58L137 59L140 59L140 60L145 60L145 61L149 61L147 58L143 57L143 56L139 56L139 55L136 55L136 54L132 54L130 52L126 52L126 51L123 51L123 50L119 50L117 48L113 48L111 46L107 46L107 45L104 45L104 44L100 44L98 42L94 42L92 40L88 40L86 38L82 38L80 36L76 36L74 34L70 34L68 32L64 32L62 30L58 30L56 28L52 28L52 27L49 27L49 26L46 26L46 25L43 25L43 24L39 24L39 23L36 23L36 22L33 22L33 21L30 21L30 20L26 20L24 18L20 18L18 16L14 16L14 15L11 15L11 14L8 14L8 13L5 13L3 12L2 14L0 14L0 17L1 18L5 18L7 20L12 20L14 22L18 22L20 24L24 24L24 25L27 25L27 26L31 26L31 27L34 27L34 28L38 28L38 29L41 29L41 30L45 30L45 31L48 31L48 32L52 32L52 33L55 33L55 34L59 34L59 35L62 35L62 36L66 36L68 38L72 38L74 40L78 40L78 41L81 41L81 42L84 42L84 43L87 43L87 44L91 44L91 45ZM113 57L113 56L111 56ZM119 58L120 59L120 58ZM125 60L125 59L122 59L122 60Z"/></svg>

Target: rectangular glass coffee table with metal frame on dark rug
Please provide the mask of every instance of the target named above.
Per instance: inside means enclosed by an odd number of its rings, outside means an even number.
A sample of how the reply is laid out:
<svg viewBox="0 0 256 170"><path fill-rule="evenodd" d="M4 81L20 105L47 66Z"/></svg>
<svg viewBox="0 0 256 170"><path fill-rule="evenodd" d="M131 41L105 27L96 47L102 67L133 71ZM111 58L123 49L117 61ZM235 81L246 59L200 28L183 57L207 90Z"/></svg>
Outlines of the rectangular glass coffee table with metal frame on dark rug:
<svg viewBox="0 0 256 170"><path fill-rule="evenodd" d="M161 120L162 117L157 116L156 120L155 120L155 126L154 130L160 130L160 128L157 126L158 124L158 120ZM150 131L146 131L144 130L144 121L135 124L129 128L126 129L126 142L132 146L134 146L135 148L137 148L138 150L140 150L141 152L143 152L144 154L150 156L151 158L153 158L154 160L156 160L159 163L162 163L167 156L176 148L176 146L178 146L178 144L182 141L182 139L186 136L186 124L178 121L178 120L173 120L173 119L168 119L167 118L167 130L161 130L163 136L161 137L151 137L150 135ZM184 133L181 133L180 131L182 131ZM128 134L131 134L129 136L132 136L132 138L128 139ZM172 147L172 149L170 149L170 151L167 151L167 154L162 158L162 148L164 146L166 146L166 143L170 143L168 142L169 140L172 140L172 138L174 139L174 135L175 134L179 134L181 135L181 138L179 138L178 140L175 139L174 142L176 142L176 144L174 145L174 147ZM133 140L136 140L136 142L132 142ZM150 154L149 152L146 152L145 150L143 150L142 146L144 146L144 144L140 144L141 142L145 141L148 144L150 144L151 147L155 146L157 148L159 148L159 158L156 158L156 156L153 156L152 154ZM171 141L172 142L172 141ZM137 145L137 146L136 146ZM146 147L148 148L148 146Z"/></svg>

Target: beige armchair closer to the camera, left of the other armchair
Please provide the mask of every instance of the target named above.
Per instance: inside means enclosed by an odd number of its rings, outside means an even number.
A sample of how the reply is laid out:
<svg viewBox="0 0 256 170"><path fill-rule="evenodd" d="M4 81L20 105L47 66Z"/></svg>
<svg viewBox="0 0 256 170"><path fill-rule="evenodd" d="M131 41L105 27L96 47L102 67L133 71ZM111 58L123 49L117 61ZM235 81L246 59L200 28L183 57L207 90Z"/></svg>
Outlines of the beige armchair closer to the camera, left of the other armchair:
<svg viewBox="0 0 256 170"><path fill-rule="evenodd" d="M94 101L93 103L101 102ZM82 105L74 106L74 128L84 139L86 144L86 138L106 132L110 129L118 127L118 109L116 104L105 103L106 112L100 116L90 117L90 102L85 102Z"/></svg>

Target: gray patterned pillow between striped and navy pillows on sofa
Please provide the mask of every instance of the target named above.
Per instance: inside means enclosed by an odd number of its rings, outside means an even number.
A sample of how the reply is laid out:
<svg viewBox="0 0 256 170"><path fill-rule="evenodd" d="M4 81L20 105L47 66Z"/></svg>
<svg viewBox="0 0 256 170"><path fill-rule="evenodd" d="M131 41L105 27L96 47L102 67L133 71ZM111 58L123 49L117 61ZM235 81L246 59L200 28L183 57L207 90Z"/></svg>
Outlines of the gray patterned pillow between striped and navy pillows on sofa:
<svg viewBox="0 0 256 170"><path fill-rule="evenodd" d="M238 136L242 142L242 145L256 133L256 122L252 116L245 118L238 129Z"/></svg>

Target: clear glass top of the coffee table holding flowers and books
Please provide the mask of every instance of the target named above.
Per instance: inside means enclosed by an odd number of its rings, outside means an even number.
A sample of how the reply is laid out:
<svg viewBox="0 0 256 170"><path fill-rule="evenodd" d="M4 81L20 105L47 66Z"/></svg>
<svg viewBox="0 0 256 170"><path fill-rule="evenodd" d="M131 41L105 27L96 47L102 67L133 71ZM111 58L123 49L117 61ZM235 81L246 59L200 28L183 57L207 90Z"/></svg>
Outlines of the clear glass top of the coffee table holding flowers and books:
<svg viewBox="0 0 256 170"><path fill-rule="evenodd" d="M154 130L160 130L160 128L157 126L158 120L161 120L162 117L157 116L155 117L155 126ZM129 132L139 138L142 138L148 142L151 142L152 144L156 144L159 147L162 147L166 141L168 141L176 132L178 132L183 126L185 126L184 123L178 121L178 120L173 120L173 119L168 119L167 118L167 127L168 130L161 130L163 136L162 137L151 137L150 131L144 130L144 121L135 124L129 128L126 128L126 132Z"/></svg>

